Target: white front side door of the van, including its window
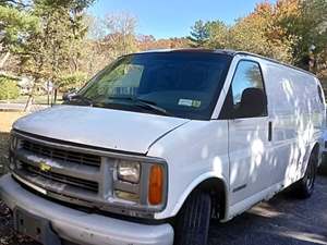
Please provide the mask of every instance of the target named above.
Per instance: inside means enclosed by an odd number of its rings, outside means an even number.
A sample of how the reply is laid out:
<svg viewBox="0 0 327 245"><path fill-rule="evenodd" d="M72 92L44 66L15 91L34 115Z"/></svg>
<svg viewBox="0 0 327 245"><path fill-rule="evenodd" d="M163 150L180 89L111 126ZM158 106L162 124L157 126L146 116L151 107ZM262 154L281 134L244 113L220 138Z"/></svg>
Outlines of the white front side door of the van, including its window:
<svg viewBox="0 0 327 245"><path fill-rule="evenodd" d="M271 185L269 118L261 66L241 60L230 89L229 123L230 201L238 204ZM255 199L255 198L254 198Z"/></svg>

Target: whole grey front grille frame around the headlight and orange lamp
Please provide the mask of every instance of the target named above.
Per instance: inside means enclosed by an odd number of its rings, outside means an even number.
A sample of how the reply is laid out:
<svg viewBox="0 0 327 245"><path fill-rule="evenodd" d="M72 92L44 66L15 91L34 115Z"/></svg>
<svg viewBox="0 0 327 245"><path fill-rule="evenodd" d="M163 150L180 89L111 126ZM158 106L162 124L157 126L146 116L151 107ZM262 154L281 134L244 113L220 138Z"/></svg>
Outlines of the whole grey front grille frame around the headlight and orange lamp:
<svg viewBox="0 0 327 245"><path fill-rule="evenodd" d="M165 208L166 203L149 206L147 193L142 192L147 188L152 164L162 164L165 179L167 177L167 163L164 160L154 162L154 158L145 156L126 155L20 132L13 132L13 137L16 137L17 144L12 152L11 171L23 186L63 203L124 216L153 218L155 212ZM120 183L117 179L117 166L124 159L146 162L142 164L138 184ZM125 195L118 195L118 191L133 193L138 198L131 200ZM167 188L164 195L167 196Z"/></svg>

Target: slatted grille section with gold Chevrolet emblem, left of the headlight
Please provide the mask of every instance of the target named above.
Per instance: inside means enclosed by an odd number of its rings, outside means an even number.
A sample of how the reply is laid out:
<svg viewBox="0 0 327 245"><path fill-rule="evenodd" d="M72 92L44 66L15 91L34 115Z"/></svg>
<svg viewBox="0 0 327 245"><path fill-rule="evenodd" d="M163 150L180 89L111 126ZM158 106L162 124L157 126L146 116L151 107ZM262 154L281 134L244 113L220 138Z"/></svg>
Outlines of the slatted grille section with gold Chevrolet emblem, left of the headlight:
<svg viewBox="0 0 327 245"><path fill-rule="evenodd" d="M40 187L72 197L78 193L81 198L86 193L99 194L100 156L28 138L20 138L15 155L16 173Z"/></svg>

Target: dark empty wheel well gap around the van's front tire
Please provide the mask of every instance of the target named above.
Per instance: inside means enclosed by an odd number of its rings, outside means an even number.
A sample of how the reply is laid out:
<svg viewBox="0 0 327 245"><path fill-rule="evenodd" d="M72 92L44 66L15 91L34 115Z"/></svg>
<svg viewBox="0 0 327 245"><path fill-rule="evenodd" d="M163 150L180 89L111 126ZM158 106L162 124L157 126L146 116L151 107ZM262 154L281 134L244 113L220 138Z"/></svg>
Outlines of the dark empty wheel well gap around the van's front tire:
<svg viewBox="0 0 327 245"><path fill-rule="evenodd" d="M218 177L210 177L198 184L194 192L207 192L211 196L214 216L223 219L226 215L226 186L222 180ZM191 194L192 194L191 193ZM191 195L190 194L190 195Z"/></svg>

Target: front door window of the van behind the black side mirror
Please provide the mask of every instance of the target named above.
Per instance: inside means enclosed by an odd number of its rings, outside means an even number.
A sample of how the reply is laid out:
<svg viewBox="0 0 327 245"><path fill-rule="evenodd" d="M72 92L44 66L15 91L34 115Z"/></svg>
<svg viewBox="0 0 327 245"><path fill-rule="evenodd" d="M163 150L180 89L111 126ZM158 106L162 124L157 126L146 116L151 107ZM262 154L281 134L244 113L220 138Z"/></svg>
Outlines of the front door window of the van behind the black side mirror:
<svg viewBox="0 0 327 245"><path fill-rule="evenodd" d="M267 98L259 64L240 61L231 84L234 118L257 118L267 114Z"/></svg>

